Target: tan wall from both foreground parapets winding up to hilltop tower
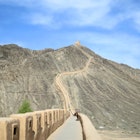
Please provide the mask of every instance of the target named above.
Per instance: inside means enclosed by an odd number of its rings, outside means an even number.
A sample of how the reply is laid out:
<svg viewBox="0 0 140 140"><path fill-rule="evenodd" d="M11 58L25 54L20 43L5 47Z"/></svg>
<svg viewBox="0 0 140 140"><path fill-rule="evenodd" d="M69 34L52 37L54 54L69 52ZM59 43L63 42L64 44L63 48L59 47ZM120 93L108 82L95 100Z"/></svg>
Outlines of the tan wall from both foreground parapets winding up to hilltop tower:
<svg viewBox="0 0 140 140"><path fill-rule="evenodd" d="M72 116L74 108L71 105L70 97L65 89L61 76L85 72L92 57L78 48L80 42L75 43L75 47L88 57L85 67L78 71L63 72L56 76L55 82L61 90L61 98L64 99L64 109L49 109L29 112L25 114L12 114L10 117L0 118L0 140L47 140L47 138L65 121ZM79 113L79 120L82 127L83 140L101 140L94 126L88 117Z"/></svg>

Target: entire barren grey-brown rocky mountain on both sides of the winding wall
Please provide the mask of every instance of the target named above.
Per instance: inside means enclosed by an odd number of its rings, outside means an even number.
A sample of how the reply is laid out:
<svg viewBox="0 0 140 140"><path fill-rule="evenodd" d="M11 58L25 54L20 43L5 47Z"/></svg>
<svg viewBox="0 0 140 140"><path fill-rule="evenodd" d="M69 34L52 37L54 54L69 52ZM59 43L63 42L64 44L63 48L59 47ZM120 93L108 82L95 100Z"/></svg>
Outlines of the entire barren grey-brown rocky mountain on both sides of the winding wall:
<svg viewBox="0 0 140 140"><path fill-rule="evenodd" d="M0 115L16 113L24 99L34 110L62 108L55 79L74 71L62 77L63 85L97 129L140 131L140 70L75 45L41 51L0 46Z"/></svg>

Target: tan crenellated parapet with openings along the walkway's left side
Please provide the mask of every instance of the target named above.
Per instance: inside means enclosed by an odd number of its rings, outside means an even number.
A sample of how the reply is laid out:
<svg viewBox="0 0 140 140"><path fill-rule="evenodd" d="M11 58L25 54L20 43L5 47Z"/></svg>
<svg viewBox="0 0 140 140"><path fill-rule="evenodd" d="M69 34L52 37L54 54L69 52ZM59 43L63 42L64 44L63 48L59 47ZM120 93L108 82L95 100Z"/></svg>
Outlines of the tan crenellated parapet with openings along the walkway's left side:
<svg viewBox="0 0 140 140"><path fill-rule="evenodd" d="M50 109L0 118L0 140L46 140L70 116L64 109Z"/></svg>

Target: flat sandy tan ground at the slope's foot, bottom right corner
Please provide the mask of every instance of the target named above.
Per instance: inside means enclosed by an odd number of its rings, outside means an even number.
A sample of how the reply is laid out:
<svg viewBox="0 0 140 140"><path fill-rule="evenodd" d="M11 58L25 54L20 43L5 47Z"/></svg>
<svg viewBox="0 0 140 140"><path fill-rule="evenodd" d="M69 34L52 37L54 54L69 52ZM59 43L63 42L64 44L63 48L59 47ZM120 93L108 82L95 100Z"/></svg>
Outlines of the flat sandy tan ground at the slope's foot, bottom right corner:
<svg viewBox="0 0 140 140"><path fill-rule="evenodd" d="M98 131L102 140L140 140L140 133L124 131Z"/></svg>

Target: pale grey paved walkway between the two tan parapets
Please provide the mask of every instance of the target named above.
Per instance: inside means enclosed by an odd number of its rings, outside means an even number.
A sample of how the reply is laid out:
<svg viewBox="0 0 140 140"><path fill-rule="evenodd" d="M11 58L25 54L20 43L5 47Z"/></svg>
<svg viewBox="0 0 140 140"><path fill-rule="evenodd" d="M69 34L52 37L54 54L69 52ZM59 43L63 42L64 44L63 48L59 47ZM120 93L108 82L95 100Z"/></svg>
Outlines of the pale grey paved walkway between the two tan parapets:
<svg viewBox="0 0 140 140"><path fill-rule="evenodd" d="M80 121L76 121L76 117L69 117L47 140L83 140Z"/></svg>

